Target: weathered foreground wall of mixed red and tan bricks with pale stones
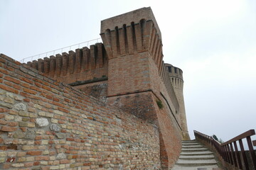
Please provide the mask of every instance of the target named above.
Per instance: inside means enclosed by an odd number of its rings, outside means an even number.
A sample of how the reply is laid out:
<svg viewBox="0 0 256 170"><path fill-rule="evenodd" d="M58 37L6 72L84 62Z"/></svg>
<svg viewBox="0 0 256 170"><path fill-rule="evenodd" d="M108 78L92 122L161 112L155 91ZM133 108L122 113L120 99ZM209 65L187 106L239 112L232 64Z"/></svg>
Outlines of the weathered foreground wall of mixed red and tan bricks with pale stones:
<svg viewBox="0 0 256 170"><path fill-rule="evenodd" d="M81 91L0 57L0 169L159 169L159 134Z"/></svg>

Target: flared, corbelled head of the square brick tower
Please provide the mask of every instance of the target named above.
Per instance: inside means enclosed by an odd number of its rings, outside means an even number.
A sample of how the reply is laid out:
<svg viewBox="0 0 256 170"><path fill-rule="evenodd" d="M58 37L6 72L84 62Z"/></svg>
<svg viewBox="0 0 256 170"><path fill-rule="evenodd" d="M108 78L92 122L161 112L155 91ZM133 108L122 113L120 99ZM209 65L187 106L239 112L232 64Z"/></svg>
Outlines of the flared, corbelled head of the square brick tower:
<svg viewBox="0 0 256 170"><path fill-rule="evenodd" d="M163 60L163 45L157 23L154 21L155 19L153 17L149 17L153 15L153 13L151 13L150 8L146 8L146 12L151 15L145 17L146 19L143 18L143 16L139 17L136 15L137 18L134 20L131 18L133 12L134 11L102 21L100 35L105 45L107 55L109 59L112 59L119 56L133 55L134 53L148 51L160 70L161 61ZM135 13L137 12L138 11L135 11ZM142 8L142 13L143 12L144 8ZM146 12L144 12L145 16ZM122 20L122 18L125 19L122 25L120 25L118 21ZM149 18L150 20L147 20ZM114 24L112 25L114 28L110 26L110 23Z"/></svg>

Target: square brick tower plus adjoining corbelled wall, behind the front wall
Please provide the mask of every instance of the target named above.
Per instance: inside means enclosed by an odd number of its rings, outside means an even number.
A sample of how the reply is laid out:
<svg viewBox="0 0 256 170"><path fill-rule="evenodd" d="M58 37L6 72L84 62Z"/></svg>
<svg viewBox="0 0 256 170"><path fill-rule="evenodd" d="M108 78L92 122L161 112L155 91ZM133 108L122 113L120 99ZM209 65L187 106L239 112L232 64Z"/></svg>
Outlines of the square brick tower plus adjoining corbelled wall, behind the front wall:
<svg viewBox="0 0 256 170"><path fill-rule="evenodd" d="M118 108L128 120L135 115L154 124L159 132L161 168L170 169L184 139L184 121L179 114L179 105L184 103L178 102L164 64L161 32L151 8L102 21L100 35L103 44L33 61L28 66L100 99L102 106Z"/></svg>

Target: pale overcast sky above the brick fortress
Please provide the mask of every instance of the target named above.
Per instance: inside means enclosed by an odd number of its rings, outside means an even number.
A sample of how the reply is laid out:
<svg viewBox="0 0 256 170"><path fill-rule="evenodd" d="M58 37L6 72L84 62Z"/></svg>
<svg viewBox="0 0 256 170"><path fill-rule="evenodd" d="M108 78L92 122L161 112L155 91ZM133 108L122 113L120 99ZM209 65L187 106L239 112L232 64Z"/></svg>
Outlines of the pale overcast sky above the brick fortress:
<svg viewBox="0 0 256 170"><path fill-rule="evenodd" d="M226 141L255 129L255 0L1 0L0 52L20 61L100 38L100 21L148 6L164 62L183 70L191 138L198 130Z"/></svg>

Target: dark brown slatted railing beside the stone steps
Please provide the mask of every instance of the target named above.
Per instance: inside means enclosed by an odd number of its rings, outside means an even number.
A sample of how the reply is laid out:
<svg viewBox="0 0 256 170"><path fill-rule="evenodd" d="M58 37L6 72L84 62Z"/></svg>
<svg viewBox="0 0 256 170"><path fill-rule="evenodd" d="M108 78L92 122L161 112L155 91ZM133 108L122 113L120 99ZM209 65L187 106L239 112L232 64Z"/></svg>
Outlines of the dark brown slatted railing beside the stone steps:
<svg viewBox="0 0 256 170"><path fill-rule="evenodd" d="M214 147L215 150L218 152L218 154L220 154L220 156L226 163L231 164L239 169L249 170L250 168L256 170L256 155L255 150L253 149L252 146L256 146L256 140L251 140L251 136L255 135L255 130L248 130L247 132L244 132L241 135L238 135L237 137L234 137L233 139L224 142L223 144L220 144L218 141L214 140L213 137L205 135L196 130L194 130L194 135L196 137L196 140L203 140L212 147ZM243 139L247 140L247 146L243 145ZM240 149L238 149L237 142L239 142ZM250 157L246 156L245 147L249 148ZM242 157L240 155L242 155ZM251 166L254 167L249 167L248 159L251 159Z"/></svg>

